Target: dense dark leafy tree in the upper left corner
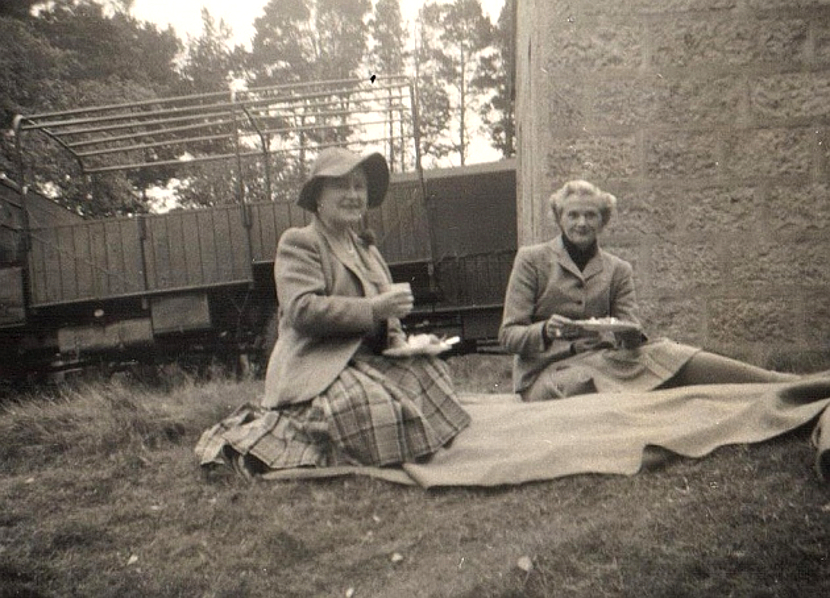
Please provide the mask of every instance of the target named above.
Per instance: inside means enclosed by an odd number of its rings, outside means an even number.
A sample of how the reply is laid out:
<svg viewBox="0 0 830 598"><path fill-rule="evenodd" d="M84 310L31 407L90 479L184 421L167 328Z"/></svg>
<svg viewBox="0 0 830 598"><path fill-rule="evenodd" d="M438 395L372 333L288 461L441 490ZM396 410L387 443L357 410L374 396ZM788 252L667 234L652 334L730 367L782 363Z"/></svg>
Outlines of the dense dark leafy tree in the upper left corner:
<svg viewBox="0 0 830 598"><path fill-rule="evenodd" d="M56 0L37 15L0 18L0 87L4 121L79 106L108 105L169 93L177 80L179 49L172 30L159 31L123 12L104 13L88 0ZM2 137L0 167L21 179L14 140ZM87 179L66 152L35 135L24 140L25 181L67 207L88 215L145 208L134 180L124 173ZM90 187L98 190L94 197Z"/></svg>

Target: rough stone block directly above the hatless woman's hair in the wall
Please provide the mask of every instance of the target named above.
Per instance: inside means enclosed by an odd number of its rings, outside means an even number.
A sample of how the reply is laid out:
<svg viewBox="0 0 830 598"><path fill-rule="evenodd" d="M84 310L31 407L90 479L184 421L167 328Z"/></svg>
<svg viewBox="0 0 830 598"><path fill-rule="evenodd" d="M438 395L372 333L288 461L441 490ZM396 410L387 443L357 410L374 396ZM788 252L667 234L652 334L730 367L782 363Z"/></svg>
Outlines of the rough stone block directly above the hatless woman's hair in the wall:
<svg viewBox="0 0 830 598"><path fill-rule="evenodd" d="M600 180L637 173L634 135L596 135L554 138L549 141L545 174L553 180Z"/></svg>

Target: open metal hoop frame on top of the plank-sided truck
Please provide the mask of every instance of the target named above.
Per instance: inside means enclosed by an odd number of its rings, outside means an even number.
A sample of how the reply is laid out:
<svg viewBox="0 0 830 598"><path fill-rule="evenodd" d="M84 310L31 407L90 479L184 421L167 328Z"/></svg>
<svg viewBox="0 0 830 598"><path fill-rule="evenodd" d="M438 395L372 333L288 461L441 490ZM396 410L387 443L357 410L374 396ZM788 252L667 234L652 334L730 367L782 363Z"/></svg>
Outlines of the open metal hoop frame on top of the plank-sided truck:
<svg viewBox="0 0 830 598"><path fill-rule="evenodd" d="M34 132L69 152L87 181L113 171L236 160L239 202L245 200L243 159L263 159L270 198L272 155L296 154L305 164L308 154L329 146L382 144L393 170L415 170L422 179L416 95L410 78L389 76L17 115L18 183L26 185L24 136ZM193 151L211 143L233 151Z"/></svg>

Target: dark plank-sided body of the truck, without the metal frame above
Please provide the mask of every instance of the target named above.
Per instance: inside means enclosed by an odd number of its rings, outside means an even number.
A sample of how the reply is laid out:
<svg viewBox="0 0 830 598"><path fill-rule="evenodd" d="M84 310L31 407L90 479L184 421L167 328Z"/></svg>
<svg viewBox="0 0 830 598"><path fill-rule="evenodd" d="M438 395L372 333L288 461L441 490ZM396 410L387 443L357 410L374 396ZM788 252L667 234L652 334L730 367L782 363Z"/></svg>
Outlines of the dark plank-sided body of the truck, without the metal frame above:
<svg viewBox="0 0 830 598"><path fill-rule="evenodd" d="M367 225L393 277L413 286L411 330L459 334L465 350L493 343L516 248L515 188L512 160L393 174ZM308 222L304 210L253 202L84 220L31 193L24 204L8 180L5 189L3 377L89 363L267 359L274 250L282 231Z"/></svg>

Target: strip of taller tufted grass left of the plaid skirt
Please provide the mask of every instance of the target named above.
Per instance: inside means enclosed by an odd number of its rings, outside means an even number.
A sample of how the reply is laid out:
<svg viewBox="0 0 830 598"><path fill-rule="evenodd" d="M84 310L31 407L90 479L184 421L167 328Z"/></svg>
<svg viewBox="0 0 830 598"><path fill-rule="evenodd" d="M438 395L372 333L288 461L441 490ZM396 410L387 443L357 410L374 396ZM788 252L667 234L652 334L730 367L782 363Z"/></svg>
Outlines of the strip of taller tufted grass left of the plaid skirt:
<svg viewBox="0 0 830 598"><path fill-rule="evenodd" d="M256 401L259 385L231 380L169 392L126 381L81 383L0 405L0 471L14 473L93 455L131 454L181 444L224 417L240 399Z"/></svg>

